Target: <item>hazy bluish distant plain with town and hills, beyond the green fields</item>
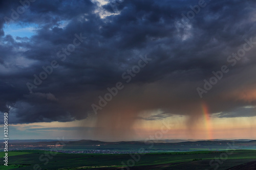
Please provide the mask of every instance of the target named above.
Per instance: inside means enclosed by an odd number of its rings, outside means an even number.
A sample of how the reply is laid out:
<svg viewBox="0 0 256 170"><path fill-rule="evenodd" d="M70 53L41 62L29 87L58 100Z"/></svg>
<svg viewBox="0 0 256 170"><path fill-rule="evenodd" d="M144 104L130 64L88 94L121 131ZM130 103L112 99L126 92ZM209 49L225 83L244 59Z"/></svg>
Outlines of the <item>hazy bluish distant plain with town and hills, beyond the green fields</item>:
<svg viewBox="0 0 256 170"><path fill-rule="evenodd" d="M173 142L172 142L173 141ZM223 151L227 149L256 150L256 140L203 140L183 141L176 140L151 140L143 141L120 141L103 142L98 140L61 140L61 141L39 141L39 140L13 140L9 144L10 151L16 150L53 150L62 153L97 153L97 154L129 154L138 153L143 148L143 153L154 152L188 152L188 151ZM56 144L57 143L57 144ZM4 151L1 142L0 151Z"/></svg>

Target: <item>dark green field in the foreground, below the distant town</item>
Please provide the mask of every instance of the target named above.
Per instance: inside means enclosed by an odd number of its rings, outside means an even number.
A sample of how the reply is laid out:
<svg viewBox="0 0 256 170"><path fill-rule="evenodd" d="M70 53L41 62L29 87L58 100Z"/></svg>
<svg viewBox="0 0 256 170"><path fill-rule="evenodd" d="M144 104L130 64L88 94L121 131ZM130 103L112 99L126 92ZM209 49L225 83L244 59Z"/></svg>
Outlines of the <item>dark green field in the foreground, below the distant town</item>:
<svg viewBox="0 0 256 170"><path fill-rule="evenodd" d="M231 152L231 151L230 151ZM136 155L133 169L145 165L169 164L172 169L214 169L209 162L215 157L220 157L225 151L191 151L148 153ZM48 154L48 155L46 155ZM4 162L4 153L0 152L0 161ZM140 157L140 158L138 158ZM8 166L0 165L0 169L33 169L35 164L41 169L100 169L100 167L120 167L122 161L126 164L133 159L129 154L63 154L41 150L24 150L8 152ZM236 150L228 155L227 160L220 164L218 169L226 169L242 163L256 160L255 150ZM49 161L49 162L48 162ZM195 166L193 168L193 166ZM38 169L40 169L38 168ZM121 168L120 168L121 169ZM148 168L150 169L150 168ZM158 169L162 169L159 167ZM168 168L163 168L168 169Z"/></svg>

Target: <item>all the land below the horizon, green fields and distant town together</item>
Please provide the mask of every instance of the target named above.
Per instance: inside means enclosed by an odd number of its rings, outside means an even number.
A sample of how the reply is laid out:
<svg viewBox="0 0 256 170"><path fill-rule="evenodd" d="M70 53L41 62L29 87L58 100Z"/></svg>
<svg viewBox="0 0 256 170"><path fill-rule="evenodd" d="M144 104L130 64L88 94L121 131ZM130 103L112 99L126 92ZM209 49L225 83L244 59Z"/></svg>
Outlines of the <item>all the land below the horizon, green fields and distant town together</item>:
<svg viewBox="0 0 256 170"><path fill-rule="evenodd" d="M25 142L24 142L25 141ZM253 169L256 140L15 140L1 169ZM172 142L173 141L173 142ZM3 151L4 145L0 145ZM224 156L223 156L224 154ZM4 152L0 152L3 161ZM217 160L218 159L218 160ZM131 166L132 165L132 166Z"/></svg>

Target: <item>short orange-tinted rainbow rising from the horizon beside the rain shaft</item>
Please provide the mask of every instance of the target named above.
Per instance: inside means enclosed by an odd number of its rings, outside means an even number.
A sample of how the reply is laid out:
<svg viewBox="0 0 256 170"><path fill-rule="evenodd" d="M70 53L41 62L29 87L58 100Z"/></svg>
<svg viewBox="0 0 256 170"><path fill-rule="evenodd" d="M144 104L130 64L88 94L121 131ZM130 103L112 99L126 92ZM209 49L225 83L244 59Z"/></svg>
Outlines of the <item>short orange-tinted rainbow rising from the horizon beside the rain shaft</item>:
<svg viewBox="0 0 256 170"><path fill-rule="evenodd" d="M214 139L214 135L212 133L210 113L205 103L202 103L202 112L205 120L205 129L207 132L207 139Z"/></svg>

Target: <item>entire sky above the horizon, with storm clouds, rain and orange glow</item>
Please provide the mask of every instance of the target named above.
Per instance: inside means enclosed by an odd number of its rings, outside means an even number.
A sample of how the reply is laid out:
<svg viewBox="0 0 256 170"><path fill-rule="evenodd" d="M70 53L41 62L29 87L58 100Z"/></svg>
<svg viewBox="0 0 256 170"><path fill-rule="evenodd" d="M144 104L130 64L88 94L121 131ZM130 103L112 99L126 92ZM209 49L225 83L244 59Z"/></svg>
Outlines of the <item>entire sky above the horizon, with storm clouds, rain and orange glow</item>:
<svg viewBox="0 0 256 170"><path fill-rule="evenodd" d="M11 139L256 139L255 1L21 2L0 1Z"/></svg>

